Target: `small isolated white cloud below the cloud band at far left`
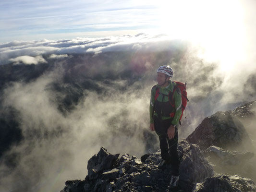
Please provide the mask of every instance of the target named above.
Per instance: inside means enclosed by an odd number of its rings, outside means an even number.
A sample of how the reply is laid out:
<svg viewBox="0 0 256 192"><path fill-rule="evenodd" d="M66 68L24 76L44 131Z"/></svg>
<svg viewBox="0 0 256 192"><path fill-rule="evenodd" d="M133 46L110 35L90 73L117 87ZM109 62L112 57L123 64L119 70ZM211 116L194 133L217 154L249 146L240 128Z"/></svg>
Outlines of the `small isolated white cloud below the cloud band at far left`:
<svg viewBox="0 0 256 192"><path fill-rule="evenodd" d="M24 63L25 65L38 64L38 63L47 63L47 61L41 56L38 55L36 57L31 56L20 56L14 59L10 59L11 62L15 62L15 64Z"/></svg>

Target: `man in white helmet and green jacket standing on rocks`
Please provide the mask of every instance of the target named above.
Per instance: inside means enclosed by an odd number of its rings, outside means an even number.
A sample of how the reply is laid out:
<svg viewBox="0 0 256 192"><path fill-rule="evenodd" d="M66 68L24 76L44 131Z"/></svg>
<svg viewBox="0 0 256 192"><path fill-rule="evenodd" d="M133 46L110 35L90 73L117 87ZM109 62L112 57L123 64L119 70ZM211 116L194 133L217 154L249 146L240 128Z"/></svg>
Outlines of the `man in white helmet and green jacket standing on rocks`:
<svg viewBox="0 0 256 192"><path fill-rule="evenodd" d="M159 137L161 157L163 161L158 166L171 164L171 182L169 187L178 186L180 175L180 157L178 154L178 131L177 126L182 114L182 97L179 88L173 91L175 82L171 81L173 70L170 66L163 65L157 70L158 84L151 89L150 98L150 126ZM170 94L173 96L173 104L170 102ZM169 145L169 146L168 146Z"/></svg>

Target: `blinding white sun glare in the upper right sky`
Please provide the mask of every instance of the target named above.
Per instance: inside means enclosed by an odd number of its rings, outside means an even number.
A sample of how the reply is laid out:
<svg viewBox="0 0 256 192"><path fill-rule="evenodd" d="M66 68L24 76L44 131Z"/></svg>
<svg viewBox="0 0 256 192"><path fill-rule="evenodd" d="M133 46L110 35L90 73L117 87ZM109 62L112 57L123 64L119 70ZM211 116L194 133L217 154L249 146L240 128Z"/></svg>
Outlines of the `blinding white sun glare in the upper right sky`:
<svg viewBox="0 0 256 192"><path fill-rule="evenodd" d="M160 30L200 45L200 56L230 71L244 59L244 10L239 0L161 0Z"/></svg>

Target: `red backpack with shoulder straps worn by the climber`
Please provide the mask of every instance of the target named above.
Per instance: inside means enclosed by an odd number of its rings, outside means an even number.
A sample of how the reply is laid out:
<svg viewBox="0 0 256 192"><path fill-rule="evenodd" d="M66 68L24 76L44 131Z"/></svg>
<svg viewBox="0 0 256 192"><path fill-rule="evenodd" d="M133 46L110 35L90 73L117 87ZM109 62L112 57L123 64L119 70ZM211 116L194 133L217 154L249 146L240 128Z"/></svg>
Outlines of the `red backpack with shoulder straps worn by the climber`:
<svg viewBox="0 0 256 192"><path fill-rule="evenodd" d="M182 115L181 115L180 120L179 120L179 123L181 125L181 119L182 119L182 116L183 116L183 111L185 110L185 108L187 106L187 102L189 101L188 98L187 98L187 92L186 92L187 82L185 84L183 84L181 82L178 82L178 81L174 81L174 82L176 83L176 85L173 87L172 92L171 91L169 92L168 98L169 98L171 106L175 107L174 106L174 100L173 100L173 93L176 91L177 88L179 88L181 90L181 95L182 95ZM155 95L155 101L157 100L158 95L159 95L159 88L157 87L156 95ZM174 115L175 115L174 112L170 113L170 117L174 117Z"/></svg>

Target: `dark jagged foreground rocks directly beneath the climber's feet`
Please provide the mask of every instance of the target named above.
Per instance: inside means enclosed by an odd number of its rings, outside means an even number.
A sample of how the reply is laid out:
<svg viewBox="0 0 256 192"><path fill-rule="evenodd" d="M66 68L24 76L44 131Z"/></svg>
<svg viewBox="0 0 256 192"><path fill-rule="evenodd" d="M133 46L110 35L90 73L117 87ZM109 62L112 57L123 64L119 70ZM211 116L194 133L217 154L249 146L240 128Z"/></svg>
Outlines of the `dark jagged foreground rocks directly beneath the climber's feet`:
<svg viewBox="0 0 256 192"><path fill-rule="evenodd" d="M179 141L181 158L180 190L191 192L197 182L213 176L213 169L195 144ZM141 158L112 155L103 147L87 165L85 180L69 180L61 192L166 192L171 180L171 165L158 168L160 151Z"/></svg>

